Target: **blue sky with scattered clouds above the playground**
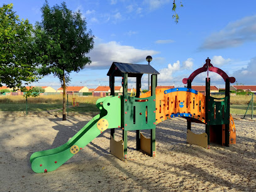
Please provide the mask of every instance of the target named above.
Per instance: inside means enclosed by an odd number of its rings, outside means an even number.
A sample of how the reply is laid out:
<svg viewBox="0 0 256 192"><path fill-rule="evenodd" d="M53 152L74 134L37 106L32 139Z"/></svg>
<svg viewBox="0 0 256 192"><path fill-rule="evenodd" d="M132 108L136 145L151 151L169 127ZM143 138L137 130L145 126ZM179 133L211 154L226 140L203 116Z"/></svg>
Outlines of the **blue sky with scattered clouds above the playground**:
<svg viewBox="0 0 256 192"><path fill-rule="evenodd" d="M62 1L48 0L52 7ZM19 18L31 24L42 21L44 0L1 0L13 3ZM111 64L136 63L147 65L146 57L158 75L158 85L184 87L183 78L203 67L209 57L214 67L221 68L234 85L256 85L256 1L182 0L177 3L179 23L172 19L173 0L65 0L67 8L80 10L91 29L94 48L87 55L91 65L79 73L70 73L69 86L96 88L109 86L106 75ZM192 85L205 85L207 73L194 78ZM223 78L209 72L211 85L224 88ZM61 86L53 75L43 77L33 86ZM115 79L121 86L121 79ZM148 77L142 77L142 89L147 89ZM128 88L135 79L128 80Z"/></svg>

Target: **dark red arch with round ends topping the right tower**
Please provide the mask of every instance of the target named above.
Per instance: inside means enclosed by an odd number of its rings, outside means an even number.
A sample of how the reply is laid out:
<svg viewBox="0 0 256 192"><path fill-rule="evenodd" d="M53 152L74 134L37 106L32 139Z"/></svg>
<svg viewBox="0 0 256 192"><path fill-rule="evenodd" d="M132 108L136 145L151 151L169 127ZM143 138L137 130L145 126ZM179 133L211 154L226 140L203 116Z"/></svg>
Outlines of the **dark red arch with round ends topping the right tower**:
<svg viewBox="0 0 256 192"><path fill-rule="evenodd" d="M206 72L207 68L209 69L210 72L218 73L224 79L225 82L226 82L226 79L229 79L230 83L235 82L235 77L228 77L228 75L223 70L221 70L218 67L213 67L213 64L211 64L210 62L211 60L208 58L203 67L198 68L197 70L192 72L189 78L184 78L182 80L182 83L187 84L187 80L191 80L192 82L197 75L199 75L200 73Z"/></svg>

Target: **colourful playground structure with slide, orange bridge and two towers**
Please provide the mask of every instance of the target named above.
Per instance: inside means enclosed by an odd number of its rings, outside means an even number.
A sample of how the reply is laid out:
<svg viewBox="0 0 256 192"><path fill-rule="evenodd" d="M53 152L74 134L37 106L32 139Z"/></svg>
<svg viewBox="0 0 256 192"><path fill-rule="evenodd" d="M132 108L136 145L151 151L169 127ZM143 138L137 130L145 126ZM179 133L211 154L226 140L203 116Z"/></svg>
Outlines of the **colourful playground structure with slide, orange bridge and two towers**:
<svg viewBox="0 0 256 192"><path fill-rule="evenodd" d="M70 157L77 154L84 146L99 136L106 129L110 129L110 153L119 159L127 159L128 131L136 131L136 150L145 151L150 156L156 156L155 128L164 120L173 117L187 119L187 142L209 149L210 142L218 142L229 146L235 144L235 124L230 115L230 82L235 78L228 77L219 68L213 67L209 58L202 68L194 71L189 78L184 78L185 88L156 89L157 72L150 65L116 63L111 65L109 87L111 96L103 97L96 102L100 114L89 121L72 139L64 145L47 151L35 152L30 157L31 168L35 173L54 171L64 164ZM194 77L202 72L216 72L226 82L225 97L216 99L210 96L210 78L206 78L206 95L191 88ZM143 74L151 75L151 90L143 95L136 92L135 97L128 95L128 77L136 78L136 90L141 88ZM114 78L122 78L123 95L114 96ZM203 134L191 131L191 122L206 125ZM115 141L114 131L122 129L123 139ZM150 130L150 138L140 132Z"/></svg>

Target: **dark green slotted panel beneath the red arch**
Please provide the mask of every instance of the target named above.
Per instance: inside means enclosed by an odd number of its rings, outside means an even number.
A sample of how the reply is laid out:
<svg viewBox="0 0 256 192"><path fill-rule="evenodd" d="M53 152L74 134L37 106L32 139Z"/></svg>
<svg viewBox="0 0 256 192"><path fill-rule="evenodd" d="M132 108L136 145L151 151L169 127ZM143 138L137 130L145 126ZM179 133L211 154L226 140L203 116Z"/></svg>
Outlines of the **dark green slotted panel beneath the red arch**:
<svg viewBox="0 0 256 192"><path fill-rule="evenodd" d="M209 97L208 105L208 125L229 124L230 105L228 105L228 97L214 98Z"/></svg>

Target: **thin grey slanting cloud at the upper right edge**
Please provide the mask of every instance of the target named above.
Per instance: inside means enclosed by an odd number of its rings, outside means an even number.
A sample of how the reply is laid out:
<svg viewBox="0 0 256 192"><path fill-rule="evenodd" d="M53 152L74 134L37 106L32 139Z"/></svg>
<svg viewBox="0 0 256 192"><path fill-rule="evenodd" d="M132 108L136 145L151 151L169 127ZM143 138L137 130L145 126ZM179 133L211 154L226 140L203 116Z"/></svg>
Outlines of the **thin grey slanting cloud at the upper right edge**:
<svg viewBox="0 0 256 192"><path fill-rule="evenodd" d="M220 49L256 41L256 14L231 22L219 32L212 33L199 49Z"/></svg>

